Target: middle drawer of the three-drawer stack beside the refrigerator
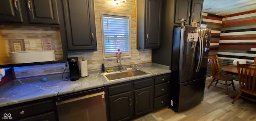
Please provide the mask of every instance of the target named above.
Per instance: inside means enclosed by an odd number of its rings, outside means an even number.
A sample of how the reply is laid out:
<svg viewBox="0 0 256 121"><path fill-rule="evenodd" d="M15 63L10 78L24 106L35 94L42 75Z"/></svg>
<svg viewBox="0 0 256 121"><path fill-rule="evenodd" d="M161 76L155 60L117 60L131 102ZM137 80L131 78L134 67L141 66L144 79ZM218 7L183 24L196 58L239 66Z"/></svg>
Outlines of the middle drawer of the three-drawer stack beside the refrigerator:
<svg viewBox="0 0 256 121"><path fill-rule="evenodd" d="M160 83L155 85L155 97L164 95L170 92L170 82Z"/></svg>

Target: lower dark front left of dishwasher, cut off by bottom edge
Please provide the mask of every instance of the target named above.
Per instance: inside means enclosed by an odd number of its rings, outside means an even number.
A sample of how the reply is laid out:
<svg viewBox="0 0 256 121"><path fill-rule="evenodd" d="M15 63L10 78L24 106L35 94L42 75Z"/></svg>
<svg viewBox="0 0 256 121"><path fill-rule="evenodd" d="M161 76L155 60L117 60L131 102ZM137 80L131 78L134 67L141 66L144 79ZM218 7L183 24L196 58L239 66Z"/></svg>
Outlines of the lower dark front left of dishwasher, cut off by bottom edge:
<svg viewBox="0 0 256 121"><path fill-rule="evenodd" d="M21 119L18 121L56 121L54 112L44 113L42 115L36 115L34 117L29 117L26 119Z"/></svg>

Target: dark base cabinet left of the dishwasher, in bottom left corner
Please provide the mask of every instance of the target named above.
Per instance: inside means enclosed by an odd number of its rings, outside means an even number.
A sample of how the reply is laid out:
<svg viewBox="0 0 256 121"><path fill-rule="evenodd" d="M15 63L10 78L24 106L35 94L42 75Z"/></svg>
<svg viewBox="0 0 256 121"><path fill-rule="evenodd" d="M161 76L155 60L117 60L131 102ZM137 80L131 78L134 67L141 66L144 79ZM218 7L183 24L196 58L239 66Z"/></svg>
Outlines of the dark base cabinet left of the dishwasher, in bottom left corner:
<svg viewBox="0 0 256 121"><path fill-rule="evenodd" d="M56 121L54 105L51 99L40 99L0 107L0 115L3 116L1 117L3 121Z"/></svg>

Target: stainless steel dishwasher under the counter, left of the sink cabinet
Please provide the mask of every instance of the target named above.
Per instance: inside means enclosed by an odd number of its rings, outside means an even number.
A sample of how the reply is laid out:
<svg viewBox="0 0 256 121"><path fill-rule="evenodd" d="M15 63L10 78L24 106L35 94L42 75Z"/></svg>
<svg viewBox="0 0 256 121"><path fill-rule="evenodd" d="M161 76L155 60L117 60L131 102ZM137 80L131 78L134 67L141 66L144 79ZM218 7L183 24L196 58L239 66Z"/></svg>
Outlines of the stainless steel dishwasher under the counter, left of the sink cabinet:
<svg viewBox="0 0 256 121"><path fill-rule="evenodd" d="M106 121L104 88L56 98L59 121Z"/></svg>

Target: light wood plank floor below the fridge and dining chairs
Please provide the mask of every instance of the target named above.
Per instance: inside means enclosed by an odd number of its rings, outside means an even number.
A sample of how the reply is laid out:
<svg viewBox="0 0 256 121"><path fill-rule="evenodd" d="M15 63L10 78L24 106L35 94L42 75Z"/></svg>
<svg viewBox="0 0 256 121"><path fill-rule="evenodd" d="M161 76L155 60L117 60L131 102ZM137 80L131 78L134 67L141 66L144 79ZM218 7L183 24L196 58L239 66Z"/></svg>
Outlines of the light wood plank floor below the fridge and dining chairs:
<svg viewBox="0 0 256 121"><path fill-rule="evenodd" d="M158 121L256 121L256 102L238 99L230 105L233 101L230 96L240 92L238 81L234 81L236 92L228 87L229 97L226 97L224 89L212 86L207 89L211 80L212 77L206 78L204 101L199 105L178 113L165 108L153 115Z"/></svg>

